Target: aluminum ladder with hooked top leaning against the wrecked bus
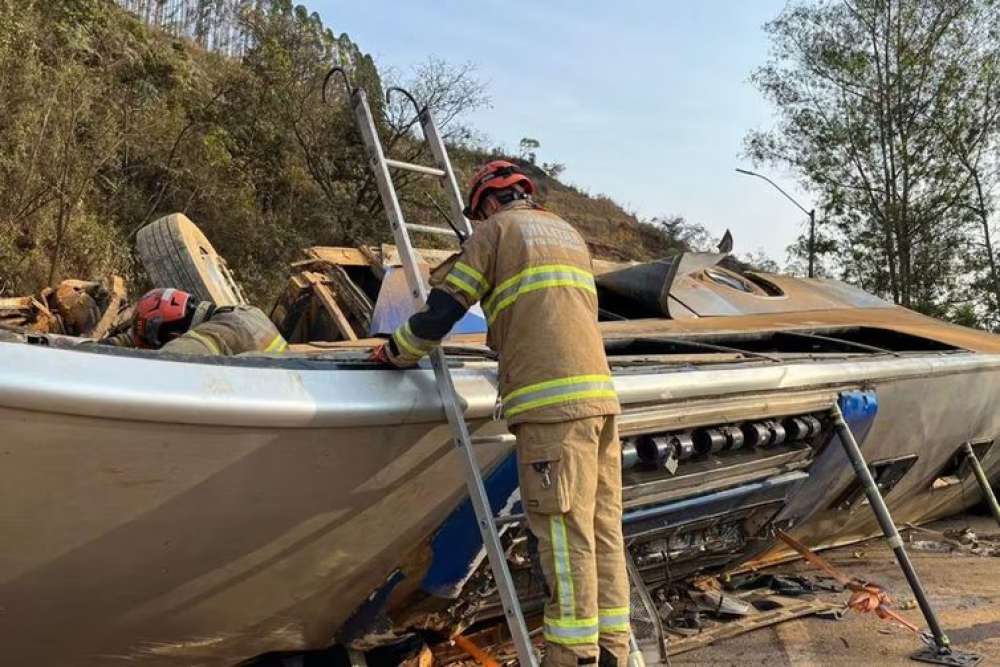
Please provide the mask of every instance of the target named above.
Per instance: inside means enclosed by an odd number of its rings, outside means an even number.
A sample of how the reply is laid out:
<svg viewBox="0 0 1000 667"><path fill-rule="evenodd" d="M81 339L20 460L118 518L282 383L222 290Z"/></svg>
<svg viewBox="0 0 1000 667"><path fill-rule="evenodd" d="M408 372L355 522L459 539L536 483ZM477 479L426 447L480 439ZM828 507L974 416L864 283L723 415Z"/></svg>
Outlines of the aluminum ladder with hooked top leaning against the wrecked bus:
<svg viewBox="0 0 1000 667"><path fill-rule="evenodd" d="M387 102L393 92L399 92L413 103L417 111L420 126L423 129L424 138L434 157L436 166L427 167L386 158L375 127L375 121L372 118L371 108L368 105L368 97L361 87L354 88L351 86L347 73L342 68L335 67L327 74L323 82L324 101L326 100L326 90L330 79L338 73L344 78L344 83L350 95L355 121L357 122L361 139L368 153L368 164L375 176L386 217L389 220L389 225L392 227L392 234L403 264L410 294L413 296L414 301L423 304L427 298L427 286L424 284L423 277L420 274L418 258L410 241L410 230L446 236L457 235L460 240L467 238L472 233L469 221L466 220L462 213L462 195L458 189L458 182L455 180L455 173L451 168L451 161L448 159L448 152L445 149L437 126L434 124L434 118L430 110L427 107L420 108L413 96L405 90L390 88L386 91ZM403 218L399 198L396 196L396 188L393 185L392 174L389 171L390 168L433 176L439 179L448 198L449 208L451 209L450 222L453 228L445 229L443 227L430 227L426 225L408 225ZM465 470L465 482L469 489L469 497L472 499L472 507L476 512L476 523L479 525L479 532L482 535L483 544L486 546L486 554L489 557L490 568L493 571L493 578L496 581L500 601L503 604L504 616L510 628L514 646L517 649L519 664L523 667L536 667L538 665L538 658L531 644L528 627L524 622L524 615L521 613L514 580L511 578L510 569L507 567L507 558L500 544L500 536L497 532L497 519L493 516L489 499L486 496L486 489L483 486L479 464L472 450L473 439L469 435L469 426L465 422L465 416L460 407L459 398L455 391L455 383L451 377L451 372L448 370L444 350L441 346L437 346L429 356L431 366L434 369L438 392L441 395L444 412L448 418L448 425L451 427L455 446L462 459L462 465ZM507 443L510 442L510 439L509 437L500 437L495 439L477 438L475 440L476 444L487 442Z"/></svg>

